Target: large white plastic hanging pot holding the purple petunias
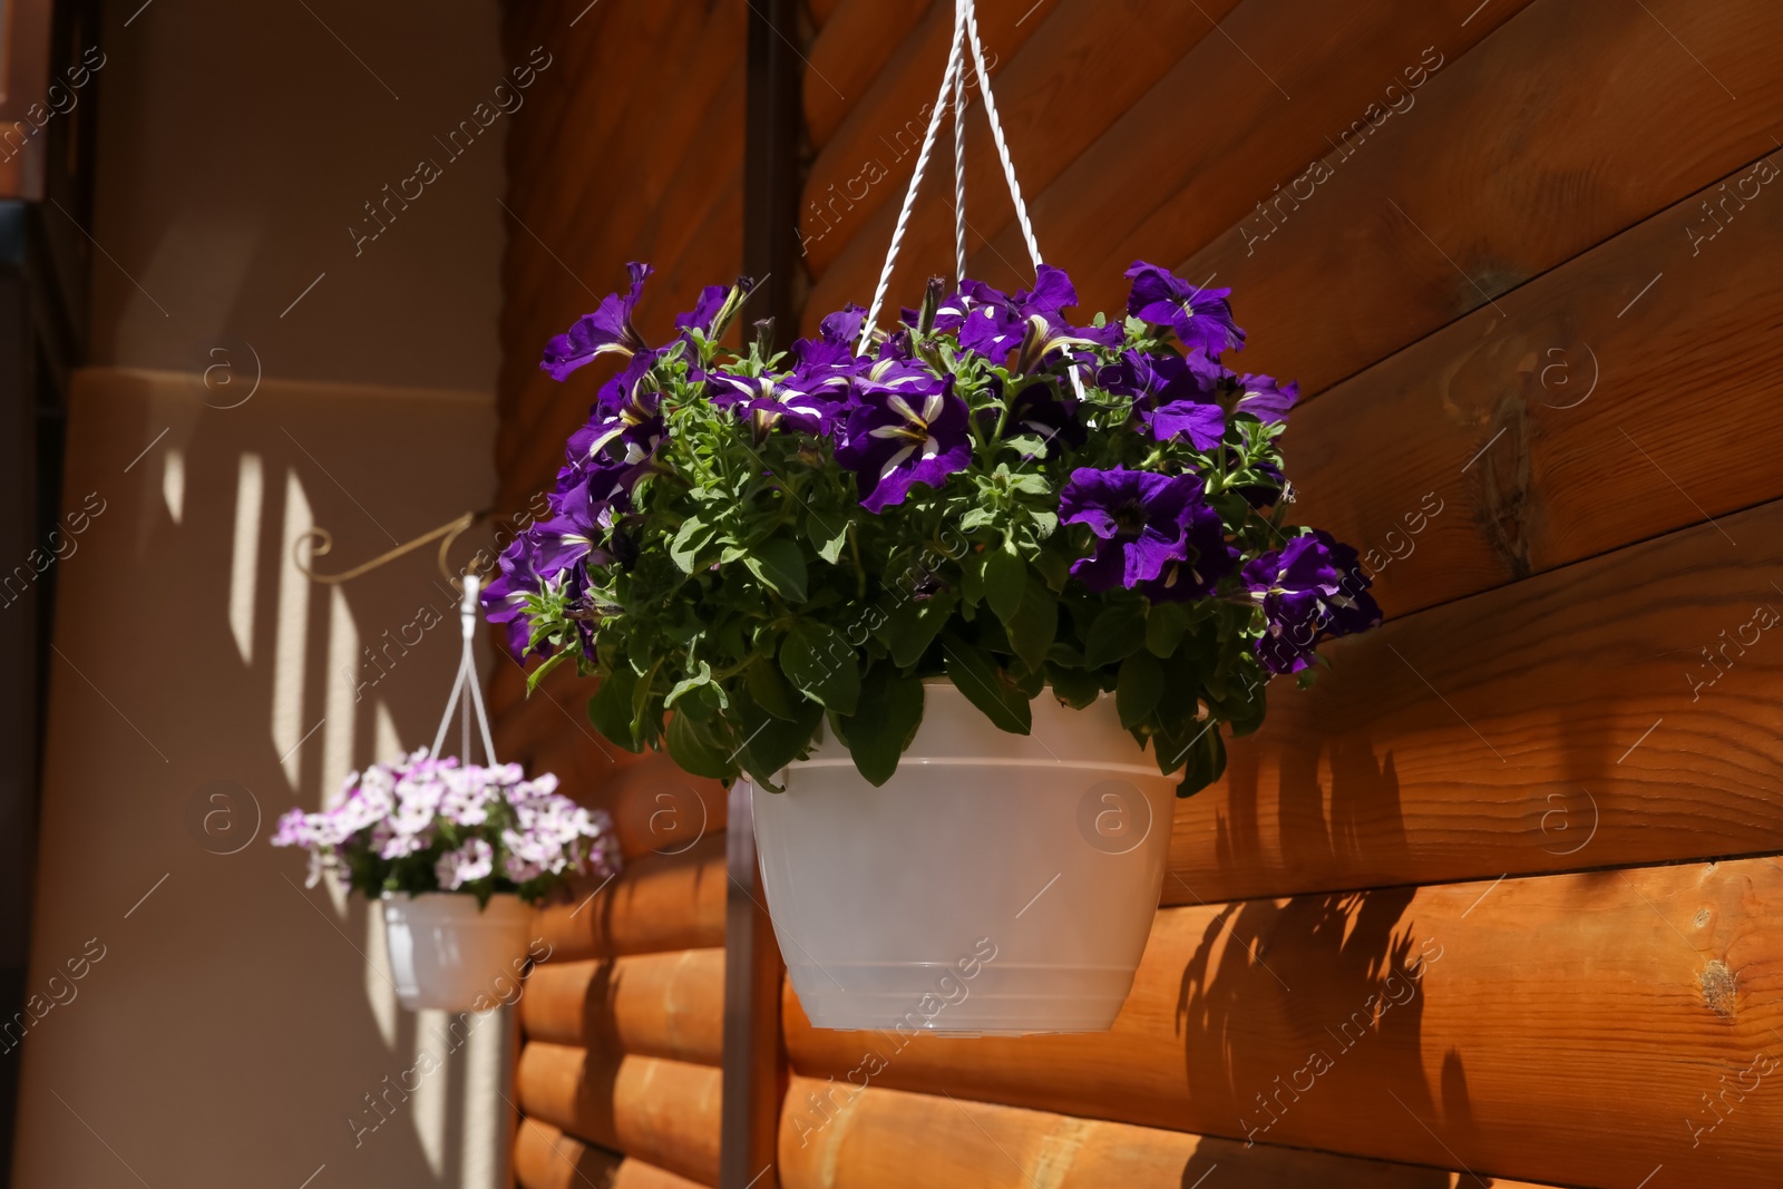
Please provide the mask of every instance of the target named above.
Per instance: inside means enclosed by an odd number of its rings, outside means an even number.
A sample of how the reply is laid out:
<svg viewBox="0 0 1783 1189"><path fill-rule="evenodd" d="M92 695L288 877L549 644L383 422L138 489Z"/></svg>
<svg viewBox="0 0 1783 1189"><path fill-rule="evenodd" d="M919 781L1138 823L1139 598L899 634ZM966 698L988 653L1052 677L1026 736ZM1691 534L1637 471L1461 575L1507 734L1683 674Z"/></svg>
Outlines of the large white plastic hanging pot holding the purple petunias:
<svg viewBox="0 0 1783 1189"><path fill-rule="evenodd" d="M952 685L874 788L820 733L783 793L752 790L756 849L793 991L820 1029L1097 1032L1145 952L1175 777L1114 699L1050 692L1032 734Z"/></svg>

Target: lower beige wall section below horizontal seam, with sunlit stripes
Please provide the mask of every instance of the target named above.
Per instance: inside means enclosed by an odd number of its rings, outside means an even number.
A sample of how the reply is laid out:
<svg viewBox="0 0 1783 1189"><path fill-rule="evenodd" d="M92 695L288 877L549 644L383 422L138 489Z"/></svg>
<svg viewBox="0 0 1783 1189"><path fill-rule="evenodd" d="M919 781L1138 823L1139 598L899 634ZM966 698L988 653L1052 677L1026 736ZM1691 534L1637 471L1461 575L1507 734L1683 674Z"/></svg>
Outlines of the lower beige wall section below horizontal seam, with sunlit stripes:
<svg viewBox="0 0 1783 1189"><path fill-rule="evenodd" d="M494 1185L508 1014L399 1011L378 914L267 845L287 808L430 742L458 661L428 553L330 588L291 544L333 529L317 569L339 570L480 506L492 410L203 396L160 373L75 387L64 503L103 510L57 562L29 984L48 1005L5 1055L12 1184Z"/></svg>

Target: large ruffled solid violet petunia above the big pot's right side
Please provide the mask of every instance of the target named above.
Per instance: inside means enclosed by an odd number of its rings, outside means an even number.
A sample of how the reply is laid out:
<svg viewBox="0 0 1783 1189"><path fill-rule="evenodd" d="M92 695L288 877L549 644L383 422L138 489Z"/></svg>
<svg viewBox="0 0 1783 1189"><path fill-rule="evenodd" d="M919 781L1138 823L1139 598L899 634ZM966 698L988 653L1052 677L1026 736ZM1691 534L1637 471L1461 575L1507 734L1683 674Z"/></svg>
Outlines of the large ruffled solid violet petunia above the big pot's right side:
<svg viewBox="0 0 1783 1189"><path fill-rule="evenodd" d="M1230 569L1220 513L1207 506L1195 474L1079 467L1059 494L1059 519L1095 533L1095 553L1072 563L1072 576L1093 592L1154 594L1154 583L1163 583L1166 597L1189 597Z"/></svg>

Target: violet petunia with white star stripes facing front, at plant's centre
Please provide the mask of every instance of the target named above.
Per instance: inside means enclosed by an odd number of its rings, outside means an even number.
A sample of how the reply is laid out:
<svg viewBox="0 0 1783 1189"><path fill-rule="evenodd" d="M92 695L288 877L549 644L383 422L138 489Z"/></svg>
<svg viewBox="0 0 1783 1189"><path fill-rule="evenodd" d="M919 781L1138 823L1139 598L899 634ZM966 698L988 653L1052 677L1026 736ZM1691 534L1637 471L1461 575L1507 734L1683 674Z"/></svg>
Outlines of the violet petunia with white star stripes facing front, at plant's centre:
<svg viewBox="0 0 1783 1189"><path fill-rule="evenodd" d="M940 488L972 462L966 403L954 394L954 378L920 364L875 364L854 385L836 458L858 476L868 512L904 503L913 483Z"/></svg>

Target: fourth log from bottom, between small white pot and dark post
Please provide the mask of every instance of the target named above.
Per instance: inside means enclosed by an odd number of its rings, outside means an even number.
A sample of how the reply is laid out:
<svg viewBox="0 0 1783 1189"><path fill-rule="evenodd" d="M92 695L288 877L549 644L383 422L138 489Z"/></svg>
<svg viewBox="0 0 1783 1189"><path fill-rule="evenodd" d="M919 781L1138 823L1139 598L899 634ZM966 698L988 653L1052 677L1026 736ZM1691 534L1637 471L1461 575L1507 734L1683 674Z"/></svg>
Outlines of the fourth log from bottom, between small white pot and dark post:
<svg viewBox="0 0 1783 1189"><path fill-rule="evenodd" d="M724 945L724 832L674 856L649 854L612 882L581 877L538 909L533 934L556 961Z"/></svg>

